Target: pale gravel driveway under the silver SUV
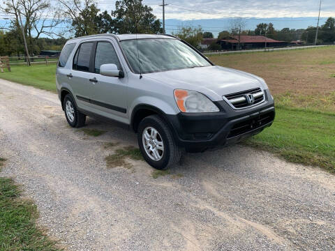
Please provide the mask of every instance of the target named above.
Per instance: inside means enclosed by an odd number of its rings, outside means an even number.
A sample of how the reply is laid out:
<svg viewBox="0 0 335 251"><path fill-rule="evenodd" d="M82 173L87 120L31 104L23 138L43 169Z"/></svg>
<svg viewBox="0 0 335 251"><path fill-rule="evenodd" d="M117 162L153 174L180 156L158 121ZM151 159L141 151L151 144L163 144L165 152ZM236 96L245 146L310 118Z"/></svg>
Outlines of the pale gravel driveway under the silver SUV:
<svg viewBox="0 0 335 251"><path fill-rule="evenodd" d="M56 94L0 79L1 176L23 184L67 250L335 249L332 174L237 145L185 154L154 179L140 160L105 164L135 134L94 119L86 128L107 132L70 128Z"/></svg>

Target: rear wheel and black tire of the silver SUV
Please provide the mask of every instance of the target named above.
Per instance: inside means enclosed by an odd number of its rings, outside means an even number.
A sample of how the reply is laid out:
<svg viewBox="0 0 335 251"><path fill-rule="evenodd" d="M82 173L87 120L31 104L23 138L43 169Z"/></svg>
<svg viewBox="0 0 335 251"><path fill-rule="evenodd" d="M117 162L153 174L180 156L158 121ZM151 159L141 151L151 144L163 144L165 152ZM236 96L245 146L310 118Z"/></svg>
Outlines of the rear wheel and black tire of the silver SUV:
<svg viewBox="0 0 335 251"><path fill-rule="evenodd" d="M63 101L64 113L68 124L73 128L80 128L84 126L86 115L79 112L75 106L75 100L70 94L67 94Z"/></svg>

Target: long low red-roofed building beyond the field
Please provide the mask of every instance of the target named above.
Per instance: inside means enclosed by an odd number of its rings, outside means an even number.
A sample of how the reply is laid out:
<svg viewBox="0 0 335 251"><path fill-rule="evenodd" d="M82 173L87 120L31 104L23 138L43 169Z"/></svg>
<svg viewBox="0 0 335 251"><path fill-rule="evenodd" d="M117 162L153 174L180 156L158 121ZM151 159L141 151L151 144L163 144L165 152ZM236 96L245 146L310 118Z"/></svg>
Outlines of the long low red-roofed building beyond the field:
<svg viewBox="0 0 335 251"><path fill-rule="evenodd" d="M218 40L223 50L240 50L264 48L264 47L285 47L287 42L267 38L266 36L230 36L226 39Z"/></svg>

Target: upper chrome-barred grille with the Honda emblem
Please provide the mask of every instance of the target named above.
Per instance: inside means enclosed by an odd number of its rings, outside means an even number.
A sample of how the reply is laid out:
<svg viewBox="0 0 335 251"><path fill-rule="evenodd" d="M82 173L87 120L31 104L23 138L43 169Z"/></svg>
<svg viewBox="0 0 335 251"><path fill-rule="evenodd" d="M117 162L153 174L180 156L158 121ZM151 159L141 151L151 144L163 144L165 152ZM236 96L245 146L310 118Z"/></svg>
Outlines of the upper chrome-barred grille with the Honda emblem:
<svg viewBox="0 0 335 251"><path fill-rule="evenodd" d="M248 100L248 95L253 96L253 100ZM265 93L260 88L232 93L223 97L234 109L243 109L258 105L265 100Z"/></svg>

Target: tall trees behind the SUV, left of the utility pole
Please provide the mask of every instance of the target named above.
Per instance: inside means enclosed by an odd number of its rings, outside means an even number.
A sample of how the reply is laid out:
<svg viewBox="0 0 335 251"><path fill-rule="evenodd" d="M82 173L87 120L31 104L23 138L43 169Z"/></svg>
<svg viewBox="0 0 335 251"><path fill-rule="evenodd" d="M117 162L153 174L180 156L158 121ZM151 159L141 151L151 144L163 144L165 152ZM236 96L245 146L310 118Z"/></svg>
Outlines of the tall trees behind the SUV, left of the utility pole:
<svg viewBox="0 0 335 251"><path fill-rule="evenodd" d="M1 55L24 54L22 29L31 55L60 50L66 36L163 32L161 21L142 0L116 1L110 13L101 12L95 0L6 0L0 11L10 17L9 26L0 27Z"/></svg>

